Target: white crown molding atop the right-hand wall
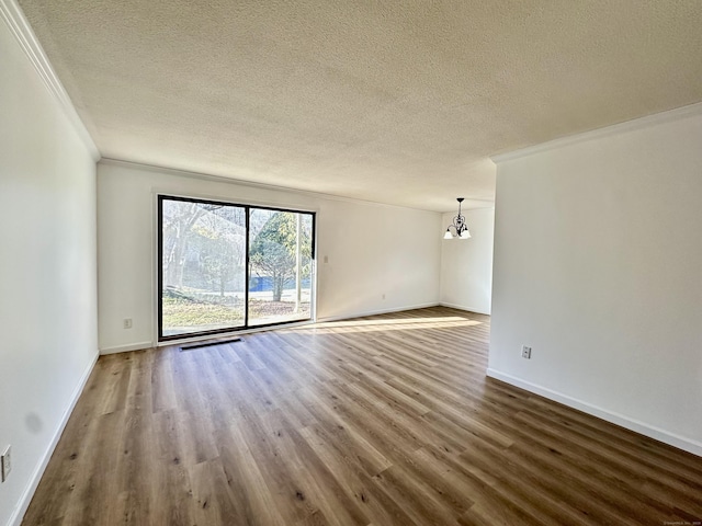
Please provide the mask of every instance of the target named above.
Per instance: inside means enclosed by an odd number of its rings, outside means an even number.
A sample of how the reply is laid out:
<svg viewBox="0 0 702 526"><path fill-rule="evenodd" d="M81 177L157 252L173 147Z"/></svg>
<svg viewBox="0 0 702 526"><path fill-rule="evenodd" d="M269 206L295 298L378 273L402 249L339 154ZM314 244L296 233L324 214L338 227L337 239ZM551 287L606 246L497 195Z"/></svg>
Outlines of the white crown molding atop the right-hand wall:
<svg viewBox="0 0 702 526"><path fill-rule="evenodd" d="M526 148L509 151L507 153L490 156L490 159L497 164L505 161L520 159L522 157L533 156L534 153L541 153L542 151L553 150L555 148L563 148L565 146L576 145L578 142L610 137L612 135L623 134L625 132L634 132L636 129L654 126L656 124L669 123L671 121L678 121L695 115L702 115L702 102L677 107L667 112L655 113L653 115L635 118L633 121L626 121L624 123L613 124L603 128L592 129L582 134L562 137L558 139L550 140L548 142L529 146Z"/></svg>

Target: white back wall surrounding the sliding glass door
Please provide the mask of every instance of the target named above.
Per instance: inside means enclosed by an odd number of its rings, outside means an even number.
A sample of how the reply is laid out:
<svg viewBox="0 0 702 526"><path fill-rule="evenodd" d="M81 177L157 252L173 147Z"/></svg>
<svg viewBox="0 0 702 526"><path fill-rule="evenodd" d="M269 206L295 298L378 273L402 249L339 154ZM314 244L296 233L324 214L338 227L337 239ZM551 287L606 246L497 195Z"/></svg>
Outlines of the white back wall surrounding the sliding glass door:
<svg viewBox="0 0 702 526"><path fill-rule="evenodd" d="M440 214L101 161L98 260L102 353L155 342L156 193L317 211L318 320L439 302ZM133 319L132 329L123 329L124 318Z"/></svg>

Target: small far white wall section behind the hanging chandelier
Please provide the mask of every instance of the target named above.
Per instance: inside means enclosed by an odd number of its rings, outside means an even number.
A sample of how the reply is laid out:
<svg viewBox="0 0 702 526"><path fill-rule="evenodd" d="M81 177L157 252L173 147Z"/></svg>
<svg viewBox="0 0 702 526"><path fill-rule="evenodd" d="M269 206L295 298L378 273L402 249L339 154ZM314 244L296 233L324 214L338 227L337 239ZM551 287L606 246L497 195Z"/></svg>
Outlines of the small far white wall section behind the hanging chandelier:
<svg viewBox="0 0 702 526"><path fill-rule="evenodd" d="M441 242L441 305L456 309L490 313L492 297L492 239L495 209L463 210L471 231L469 239L444 239ZM453 221L444 214L442 227Z"/></svg>

